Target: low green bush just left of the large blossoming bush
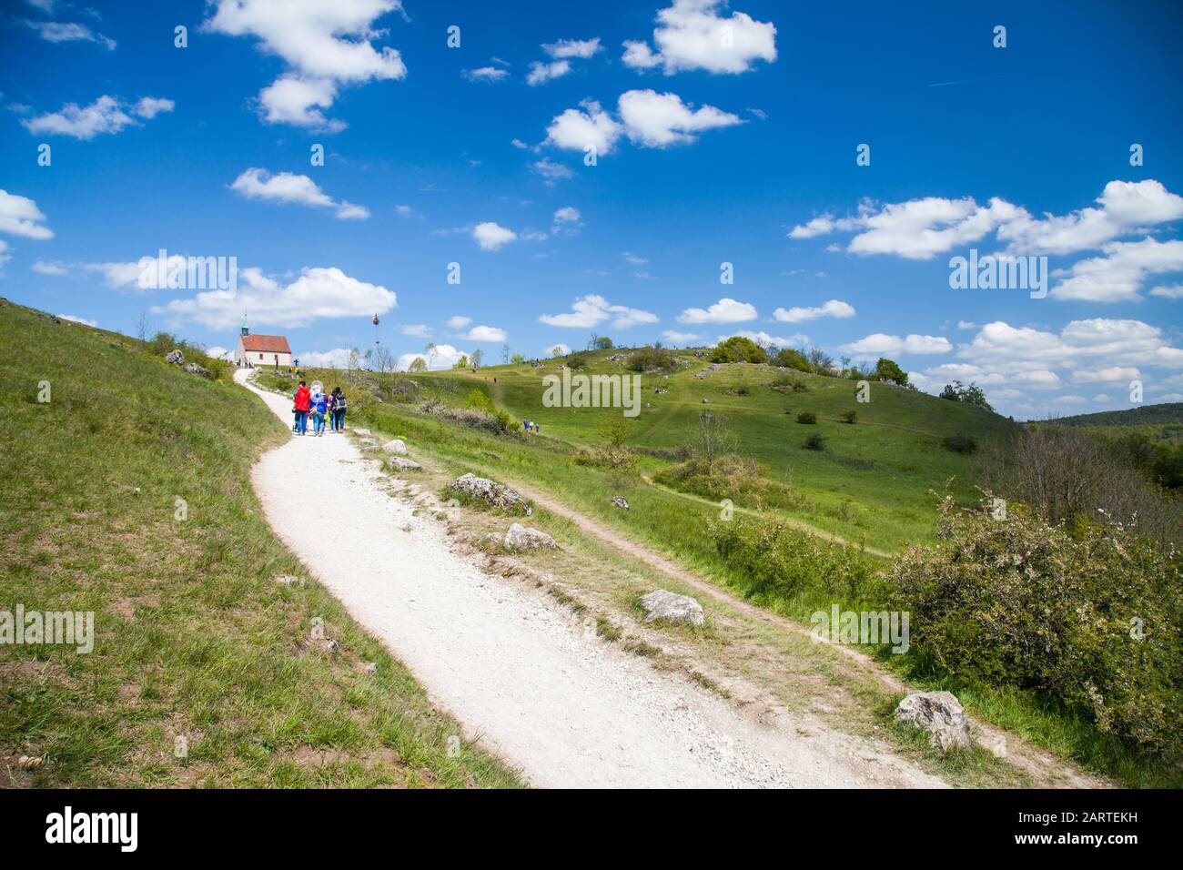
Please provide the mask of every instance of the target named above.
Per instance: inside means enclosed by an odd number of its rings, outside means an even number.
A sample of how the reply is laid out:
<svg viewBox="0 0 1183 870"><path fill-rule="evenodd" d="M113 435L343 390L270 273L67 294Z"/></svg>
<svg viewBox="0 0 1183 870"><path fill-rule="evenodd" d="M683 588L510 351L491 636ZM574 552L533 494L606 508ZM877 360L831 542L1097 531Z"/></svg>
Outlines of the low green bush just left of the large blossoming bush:
<svg viewBox="0 0 1183 870"><path fill-rule="evenodd" d="M821 592L849 599L874 587L875 572L853 547L829 543L774 520L732 520L712 526L715 547L739 568L756 592L794 597Z"/></svg>

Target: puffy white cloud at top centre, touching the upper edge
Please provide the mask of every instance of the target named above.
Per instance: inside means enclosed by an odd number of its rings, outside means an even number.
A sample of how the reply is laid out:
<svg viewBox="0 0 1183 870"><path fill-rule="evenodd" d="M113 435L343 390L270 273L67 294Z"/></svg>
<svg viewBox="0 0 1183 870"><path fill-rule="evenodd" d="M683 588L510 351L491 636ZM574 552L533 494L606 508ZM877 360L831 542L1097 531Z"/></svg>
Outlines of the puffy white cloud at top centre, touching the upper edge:
<svg viewBox="0 0 1183 870"><path fill-rule="evenodd" d="M776 27L743 12L723 18L722 0L674 0L658 12L653 44L625 43L625 64L635 69L661 66L667 76L684 70L746 72L756 60L776 60Z"/></svg>

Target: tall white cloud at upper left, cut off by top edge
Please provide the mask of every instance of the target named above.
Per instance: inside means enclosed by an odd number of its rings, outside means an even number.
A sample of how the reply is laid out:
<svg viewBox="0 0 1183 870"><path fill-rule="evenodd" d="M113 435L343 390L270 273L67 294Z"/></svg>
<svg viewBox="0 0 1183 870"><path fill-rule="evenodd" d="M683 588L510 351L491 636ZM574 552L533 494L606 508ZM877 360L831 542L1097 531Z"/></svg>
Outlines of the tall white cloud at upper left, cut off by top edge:
<svg viewBox="0 0 1183 870"><path fill-rule="evenodd" d="M251 36L260 50L282 58L290 70L265 88L259 99L267 123L336 131L344 127L321 112L332 105L337 89L348 84L400 79L407 75L399 52L371 40L386 31L374 22L402 12L399 0L215 0L216 11L203 27L233 37Z"/></svg>

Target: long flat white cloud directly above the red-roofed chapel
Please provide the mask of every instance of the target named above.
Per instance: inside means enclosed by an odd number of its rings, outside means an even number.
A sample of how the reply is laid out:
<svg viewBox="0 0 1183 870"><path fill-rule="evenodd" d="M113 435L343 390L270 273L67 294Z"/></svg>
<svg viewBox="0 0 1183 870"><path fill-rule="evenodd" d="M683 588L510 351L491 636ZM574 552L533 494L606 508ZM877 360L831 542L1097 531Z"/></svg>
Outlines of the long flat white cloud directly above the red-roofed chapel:
<svg viewBox="0 0 1183 870"><path fill-rule="evenodd" d="M306 327L322 318L386 314L397 304L395 294L353 278L337 268L305 268L286 285L258 270L239 270L239 288L206 290L187 299L157 305L153 314L195 321L211 329L230 329L250 311L251 322L274 327Z"/></svg>

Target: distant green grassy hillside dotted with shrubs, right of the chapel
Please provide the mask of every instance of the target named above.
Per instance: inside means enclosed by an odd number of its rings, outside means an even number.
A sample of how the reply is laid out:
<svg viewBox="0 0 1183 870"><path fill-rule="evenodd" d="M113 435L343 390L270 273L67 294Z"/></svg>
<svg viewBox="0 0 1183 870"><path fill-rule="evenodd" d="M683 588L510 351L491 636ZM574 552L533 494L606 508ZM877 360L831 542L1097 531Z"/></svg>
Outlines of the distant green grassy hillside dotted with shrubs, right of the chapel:
<svg viewBox="0 0 1183 870"><path fill-rule="evenodd" d="M632 374L620 352L584 355L581 374ZM870 401L855 400L855 384L836 378L788 373L771 366L726 365L712 369L691 352L678 352L687 365L671 373L642 375L642 408L631 423L627 444L634 449L673 450L696 438L703 410L726 419L737 452L763 463L770 479L789 484L807 507L789 511L817 528L868 547L894 550L932 537L936 521L932 490L976 501L977 459L946 449L948 436L968 434L980 449L1003 439L1014 426L981 408L936 399L887 384L871 385ZM472 388L485 392L516 421L542 424L542 433L573 444L600 444L600 426L619 410L544 407L545 374L560 370L498 366L416 375L428 391L463 399ZM706 376L696 379L704 372ZM493 379L496 378L496 382ZM796 381L800 386L781 385ZM441 389L441 387L444 389ZM657 388L667 393L655 393ZM703 400L706 399L706 404ZM853 411L855 423L843 421ZM814 425L796 421L813 412ZM807 450L809 436L821 436L823 450ZM646 459L655 471L672 464ZM743 498L732 497L743 505ZM745 505L752 507L752 505Z"/></svg>

